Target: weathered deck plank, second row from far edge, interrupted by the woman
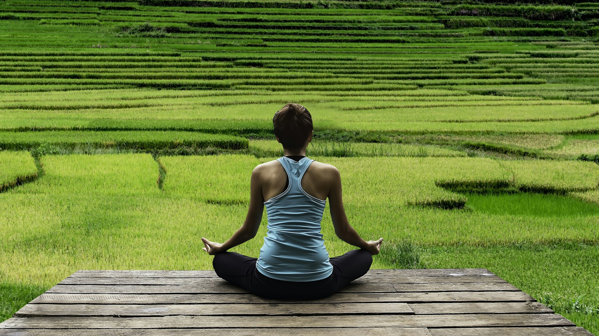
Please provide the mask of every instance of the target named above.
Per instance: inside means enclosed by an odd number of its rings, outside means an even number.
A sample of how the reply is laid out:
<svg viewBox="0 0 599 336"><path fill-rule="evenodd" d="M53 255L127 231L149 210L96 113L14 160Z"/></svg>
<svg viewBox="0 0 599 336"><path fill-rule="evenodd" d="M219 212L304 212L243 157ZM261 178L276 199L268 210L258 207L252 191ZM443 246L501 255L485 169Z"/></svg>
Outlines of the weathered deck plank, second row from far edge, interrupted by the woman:
<svg viewBox="0 0 599 336"><path fill-rule="evenodd" d="M506 282L498 276L371 276L361 277L352 283L468 283ZM226 283L218 277L67 277L61 285L220 285Z"/></svg>

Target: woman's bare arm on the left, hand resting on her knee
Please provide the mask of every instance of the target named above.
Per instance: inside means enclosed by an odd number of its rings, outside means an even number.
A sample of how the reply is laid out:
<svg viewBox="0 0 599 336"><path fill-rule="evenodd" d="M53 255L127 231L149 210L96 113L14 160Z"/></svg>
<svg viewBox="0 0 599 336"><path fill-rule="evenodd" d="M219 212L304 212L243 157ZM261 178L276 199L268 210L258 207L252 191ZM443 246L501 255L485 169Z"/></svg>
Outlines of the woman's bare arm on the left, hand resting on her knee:
<svg viewBox="0 0 599 336"><path fill-rule="evenodd" d="M235 231L233 236L226 242L219 244L210 242L210 240L202 237L204 243L204 251L210 255L225 252L228 249L234 248L237 245L247 242L256 237L260 222L262 221L262 212L264 210L264 196L262 196L262 181L260 174L260 166L252 170L252 178L250 179L250 206L247 209L246 221L243 222L240 228Z"/></svg>

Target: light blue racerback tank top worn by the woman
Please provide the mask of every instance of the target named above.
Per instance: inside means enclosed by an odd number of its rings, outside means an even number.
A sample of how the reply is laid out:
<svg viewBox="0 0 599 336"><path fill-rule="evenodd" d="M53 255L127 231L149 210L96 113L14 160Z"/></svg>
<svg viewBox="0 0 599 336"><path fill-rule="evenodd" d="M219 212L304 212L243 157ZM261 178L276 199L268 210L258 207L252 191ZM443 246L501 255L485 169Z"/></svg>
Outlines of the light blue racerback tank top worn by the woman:
<svg viewBox="0 0 599 336"><path fill-rule="evenodd" d="M264 202L268 233L256 268L273 279L308 282L330 276L333 267L320 234L320 221L326 201L312 197L301 188L301 178L314 161L304 157L298 162L278 158L289 178L289 187L279 196Z"/></svg>

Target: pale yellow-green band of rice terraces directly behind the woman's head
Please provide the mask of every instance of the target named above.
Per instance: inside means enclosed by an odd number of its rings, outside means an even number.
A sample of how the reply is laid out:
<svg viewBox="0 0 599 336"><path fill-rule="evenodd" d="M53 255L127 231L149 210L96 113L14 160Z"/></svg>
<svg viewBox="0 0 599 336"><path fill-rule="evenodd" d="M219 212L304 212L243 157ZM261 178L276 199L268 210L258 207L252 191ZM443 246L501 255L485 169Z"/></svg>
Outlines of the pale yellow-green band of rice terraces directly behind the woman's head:
<svg viewBox="0 0 599 336"><path fill-rule="evenodd" d="M317 131L528 136L583 132L599 120L595 105L584 101L464 95L450 90L389 91L388 96L352 91L268 93L264 89L161 91L90 90L89 96L78 91L11 93L0 102L0 129L270 133L272 115L290 100L310 108Z"/></svg>

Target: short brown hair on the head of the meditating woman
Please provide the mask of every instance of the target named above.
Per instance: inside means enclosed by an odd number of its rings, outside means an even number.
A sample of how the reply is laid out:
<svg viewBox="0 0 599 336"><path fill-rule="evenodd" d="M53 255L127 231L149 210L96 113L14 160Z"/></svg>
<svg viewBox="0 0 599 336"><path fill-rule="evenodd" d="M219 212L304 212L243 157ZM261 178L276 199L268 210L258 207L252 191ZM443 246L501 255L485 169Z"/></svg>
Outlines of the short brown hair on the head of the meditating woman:
<svg viewBox="0 0 599 336"><path fill-rule="evenodd" d="M286 103L274 114L273 126L283 148L302 148L313 130L312 116L304 106Z"/></svg>

